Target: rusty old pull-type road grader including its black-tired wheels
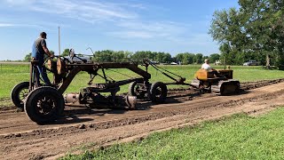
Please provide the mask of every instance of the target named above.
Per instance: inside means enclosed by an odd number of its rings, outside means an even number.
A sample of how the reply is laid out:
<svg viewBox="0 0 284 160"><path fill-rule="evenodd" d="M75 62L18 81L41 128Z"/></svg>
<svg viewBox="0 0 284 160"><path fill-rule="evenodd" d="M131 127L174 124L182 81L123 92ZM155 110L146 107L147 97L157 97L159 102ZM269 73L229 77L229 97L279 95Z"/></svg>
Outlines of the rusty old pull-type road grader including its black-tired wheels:
<svg viewBox="0 0 284 160"><path fill-rule="evenodd" d="M135 109L137 99L149 99L154 103L164 102L167 97L168 84L184 84L195 87L192 84L186 84L184 77L160 68L150 60L143 60L143 66L146 67L146 70L144 70L138 68L138 64L134 62L92 62L83 60L77 57L74 52L70 52L69 58L58 56L57 59L45 61L43 68L51 71L53 82L51 86L44 86L41 84L36 63L36 61L31 62L30 81L17 84L12 89L12 101L17 108L25 110L28 117L37 124L49 124L57 120L62 115L65 104L79 103L91 108L105 105L114 108ZM151 75L147 72L150 65L162 72L163 75L170 77L174 82L155 82L151 84L149 82ZM106 69L112 68L130 69L138 77L114 81L114 79L106 76ZM99 70L101 71L99 72ZM89 86L82 88L79 93L63 95L74 77L81 71L90 74ZM93 83L96 76L102 77L105 83ZM174 76L177 76L177 78ZM117 95L120 86L124 84L130 84L129 94L126 96ZM106 93L103 92L108 92L110 95L105 95Z"/></svg>

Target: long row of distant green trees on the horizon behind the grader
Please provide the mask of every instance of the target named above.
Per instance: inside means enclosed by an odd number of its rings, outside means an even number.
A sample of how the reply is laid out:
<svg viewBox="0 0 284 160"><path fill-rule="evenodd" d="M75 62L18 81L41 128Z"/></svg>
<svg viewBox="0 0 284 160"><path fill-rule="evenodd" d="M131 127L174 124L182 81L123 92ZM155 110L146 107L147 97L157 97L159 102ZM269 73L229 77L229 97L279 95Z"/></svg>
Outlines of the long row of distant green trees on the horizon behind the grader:
<svg viewBox="0 0 284 160"><path fill-rule="evenodd" d="M68 56L69 49L65 49L61 56ZM54 54L54 52L50 51ZM82 53L76 53L78 56L84 56ZM210 54L209 56L204 56L202 53L177 53L176 56L172 57L169 52L151 52L151 51L112 51L103 50L96 51L92 55L89 55L92 60L98 62L123 62L123 61L140 61L144 59L153 60L155 63L170 64L171 62L176 62L177 64L201 64L205 59L209 59L212 63L219 60L220 55L218 53ZM24 61L29 61L31 58L31 53L28 53Z"/></svg>

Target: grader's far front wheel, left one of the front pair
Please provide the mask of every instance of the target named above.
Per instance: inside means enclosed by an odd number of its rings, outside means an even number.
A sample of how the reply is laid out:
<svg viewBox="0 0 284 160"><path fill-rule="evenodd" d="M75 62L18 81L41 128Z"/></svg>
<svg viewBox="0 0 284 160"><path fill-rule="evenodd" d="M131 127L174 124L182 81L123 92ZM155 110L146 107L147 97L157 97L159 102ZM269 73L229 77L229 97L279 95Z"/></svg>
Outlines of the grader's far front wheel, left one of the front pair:
<svg viewBox="0 0 284 160"><path fill-rule="evenodd" d="M130 96L136 96L138 99L143 99L145 98L146 88L143 84L138 84L138 82L134 81L130 83L128 93Z"/></svg>

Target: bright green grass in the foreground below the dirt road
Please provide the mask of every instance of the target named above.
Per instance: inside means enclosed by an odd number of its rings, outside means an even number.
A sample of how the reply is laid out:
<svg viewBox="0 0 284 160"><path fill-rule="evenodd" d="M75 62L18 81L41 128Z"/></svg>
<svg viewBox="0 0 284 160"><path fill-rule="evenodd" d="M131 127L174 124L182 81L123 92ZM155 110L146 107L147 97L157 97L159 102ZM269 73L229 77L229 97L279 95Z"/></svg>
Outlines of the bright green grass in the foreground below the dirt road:
<svg viewBox="0 0 284 160"><path fill-rule="evenodd" d="M234 115L62 159L283 159L283 114Z"/></svg>

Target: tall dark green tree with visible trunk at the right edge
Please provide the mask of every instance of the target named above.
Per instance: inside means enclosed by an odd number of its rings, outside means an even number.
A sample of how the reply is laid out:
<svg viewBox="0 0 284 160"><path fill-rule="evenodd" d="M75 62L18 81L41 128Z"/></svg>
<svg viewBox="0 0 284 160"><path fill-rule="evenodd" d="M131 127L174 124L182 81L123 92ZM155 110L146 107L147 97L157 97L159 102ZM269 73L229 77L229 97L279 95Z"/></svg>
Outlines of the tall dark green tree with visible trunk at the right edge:
<svg viewBox="0 0 284 160"><path fill-rule="evenodd" d="M276 63L282 66L283 56L283 7L284 2L280 0L240 0L241 9L248 17L247 32L253 39L255 52L265 56L266 66L270 65L270 58L274 53ZM256 7L256 9L254 9Z"/></svg>

